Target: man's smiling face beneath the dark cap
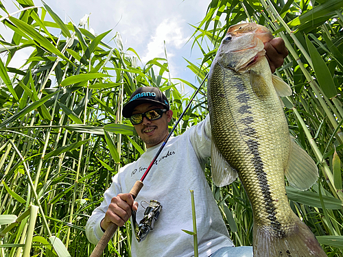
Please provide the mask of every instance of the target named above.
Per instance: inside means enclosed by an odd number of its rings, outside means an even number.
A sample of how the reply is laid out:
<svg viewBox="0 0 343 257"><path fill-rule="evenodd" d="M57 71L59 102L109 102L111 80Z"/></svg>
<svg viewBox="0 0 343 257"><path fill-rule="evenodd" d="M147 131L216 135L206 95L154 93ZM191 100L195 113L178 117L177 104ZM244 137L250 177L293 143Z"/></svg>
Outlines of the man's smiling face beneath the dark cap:
<svg viewBox="0 0 343 257"><path fill-rule="evenodd" d="M132 111L132 114L139 114L147 112L154 109L164 109L161 104L158 103L142 103L139 106L136 106ZM134 125L134 129L137 134L143 140L147 148L158 145L163 142L168 136L168 123L173 116L171 110L162 114L160 119L155 121L149 121L146 117L143 117L142 123Z"/></svg>

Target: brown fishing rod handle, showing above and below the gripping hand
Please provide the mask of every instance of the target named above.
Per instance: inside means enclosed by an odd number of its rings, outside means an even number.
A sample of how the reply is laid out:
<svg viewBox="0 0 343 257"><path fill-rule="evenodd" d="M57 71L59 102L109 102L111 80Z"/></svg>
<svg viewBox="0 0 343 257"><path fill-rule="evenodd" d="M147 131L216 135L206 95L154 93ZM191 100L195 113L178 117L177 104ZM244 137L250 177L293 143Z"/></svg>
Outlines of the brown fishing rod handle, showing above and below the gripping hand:
<svg viewBox="0 0 343 257"><path fill-rule="evenodd" d="M139 191L141 191L141 188L143 187L143 182L141 180L137 180L134 183L134 186L132 187L130 191L130 195L132 195L133 199L136 199ZM102 252L108 245L108 242L110 241L110 238L113 237L115 232L117 231L118 226L115 223L110 223L104 234L102 235L102 238L97 243L97 246L95 246L92 254L89 257L99 257L102 255Z"/></svg>

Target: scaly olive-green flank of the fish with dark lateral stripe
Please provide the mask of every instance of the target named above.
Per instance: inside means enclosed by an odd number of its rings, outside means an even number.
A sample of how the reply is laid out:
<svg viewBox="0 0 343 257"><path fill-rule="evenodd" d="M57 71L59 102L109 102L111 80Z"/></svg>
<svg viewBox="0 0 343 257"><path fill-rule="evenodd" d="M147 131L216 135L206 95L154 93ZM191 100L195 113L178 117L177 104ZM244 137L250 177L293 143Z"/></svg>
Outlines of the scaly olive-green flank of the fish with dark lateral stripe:
<svg viewBox="0 0 343 257"><path fill-rule="evenodd" d="M255 222L274 224L277 232L284 234L281 223L288 221L284 215L278 215L278 210L281 210L279 214L285 213L285 206L289 205L285 191L279 188L284 188L285 184L283 153L289 151L289 138L280 134L289 132L279 99L272 92L263 102L257 99L250 86L249 73L239 74L217 63L213 74L209 83L215 86L209 88L209 108L217 148L239 173L252 202ZM261 112L265 108L272 112ZM275 123L283 125L274 127ZM279 138L279 144L271 145L275 138ZM256 190L256 184L259 184L259 190Z"/></svg>

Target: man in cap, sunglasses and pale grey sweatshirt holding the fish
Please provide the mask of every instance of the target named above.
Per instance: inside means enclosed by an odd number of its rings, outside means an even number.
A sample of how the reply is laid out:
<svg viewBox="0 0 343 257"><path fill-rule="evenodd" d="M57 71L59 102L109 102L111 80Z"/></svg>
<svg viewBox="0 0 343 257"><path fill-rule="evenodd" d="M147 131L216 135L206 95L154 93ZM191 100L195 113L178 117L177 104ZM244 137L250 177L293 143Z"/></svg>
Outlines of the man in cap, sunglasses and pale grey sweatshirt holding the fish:
<svg viewBox="0 0 343 257"><path fill-rule="evenodd" d="M272 72L281 66L287 49L281 38L265 43ZM91 243L97 243L108 225L124 225L132 211L137 219L144 216L139 203L158 201L163 206L154 229L144 241L132 236L132 256L193 256L193 237L182 230L193 231L191 197L194 191L199 256L252 256L252 247L233 247L215 199L204 176L204 164L211 155L209 117L184 134L170 138L144 180L136 201L128 194L134 182L141 179L161 144L167 138L173 112L158 88L141 87L123 108L147 151L136 162L127 164L114 176L104 194L101 206L93 211L86 225Z"/></svg>

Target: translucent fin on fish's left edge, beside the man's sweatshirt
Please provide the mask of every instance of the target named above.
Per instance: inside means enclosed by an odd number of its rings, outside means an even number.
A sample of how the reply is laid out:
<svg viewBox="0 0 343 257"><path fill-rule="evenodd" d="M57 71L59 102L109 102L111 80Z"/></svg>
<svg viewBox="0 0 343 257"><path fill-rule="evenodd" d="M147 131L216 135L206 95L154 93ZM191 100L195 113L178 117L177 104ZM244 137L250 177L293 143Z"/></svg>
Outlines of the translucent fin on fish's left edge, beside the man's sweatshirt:
<svg viewBox="0 0 343 257"><path fill-rule="evenodd" d="M226 186L231 184L238 177L237 171L230 167L228 162L224 160L213 140L211 145L211 173L213 183L216 186Z"/></svg>

